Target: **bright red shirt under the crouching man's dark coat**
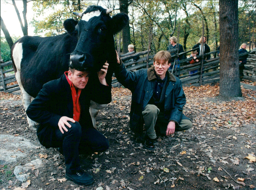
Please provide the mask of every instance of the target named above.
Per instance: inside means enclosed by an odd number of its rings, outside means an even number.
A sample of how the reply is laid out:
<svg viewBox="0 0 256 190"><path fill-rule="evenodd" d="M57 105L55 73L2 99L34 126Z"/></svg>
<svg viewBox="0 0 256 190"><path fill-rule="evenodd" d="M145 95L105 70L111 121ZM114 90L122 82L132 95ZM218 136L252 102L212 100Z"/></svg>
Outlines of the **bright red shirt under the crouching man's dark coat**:
<svg viewBox="0 0 256 190"><path fill-rule="evenodd" d="M71 88L72 99L73 99L73 119L78 122L80 120L80 113L81 113L81 105L79 102L79 96L81 94L81 89L78 89L76 92L76 88L75 88L74 84L68 78L68 71L64 72L64 74L65 74L68 84L70 85L70 88Z"/></svg>

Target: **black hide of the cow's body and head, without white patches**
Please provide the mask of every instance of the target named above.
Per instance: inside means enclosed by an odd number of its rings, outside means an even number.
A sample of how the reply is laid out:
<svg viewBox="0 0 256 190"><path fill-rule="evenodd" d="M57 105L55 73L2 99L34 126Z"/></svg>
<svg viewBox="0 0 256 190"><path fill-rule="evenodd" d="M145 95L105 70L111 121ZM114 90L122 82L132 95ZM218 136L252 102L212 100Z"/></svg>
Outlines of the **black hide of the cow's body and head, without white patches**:
<svg viewBox="0 0 256 190"><path fill-rule="evenodd" d="M84 14L96 10L106 12L106 9L100 6L90 6ZM65 34L53 37L24 36L15 42L15 44L22 43L20 80L29 95L36 97L44 83L59 78L64 71L67 71L71 53L73 55L85 54L84 65L88 64L89 68L93 67L95 72L92 72L89 84L97 79L96 71L108 61L106 79L107 83L111 84L113 64L116 63L113 34L119 32L128 23L129 18L120 13L114 16L116 18L112 22L113 19L109 15L102 14L103 16L93 17L88 22L65 20L64 27L68 32ZM101 27L105 31L101 32Z"/></svg>

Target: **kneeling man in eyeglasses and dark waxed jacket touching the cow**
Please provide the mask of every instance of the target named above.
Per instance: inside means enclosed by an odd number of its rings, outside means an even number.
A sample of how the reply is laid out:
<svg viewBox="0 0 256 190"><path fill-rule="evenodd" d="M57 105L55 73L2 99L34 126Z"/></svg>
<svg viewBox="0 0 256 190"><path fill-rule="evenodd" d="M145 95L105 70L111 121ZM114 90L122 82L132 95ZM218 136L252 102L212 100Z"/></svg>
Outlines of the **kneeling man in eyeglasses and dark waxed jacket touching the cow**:
<svg viewBox="0 0 256 190"><path fill-rule="evenodd" d="M117 62L115 76L118 82L132 91L130 128L142 139L145 123L146 149L155 148L157 136L169 136L192 127L190 119L182 113L186 97L181 81L168 70L170 52L159 51L154 56L154 66L135 72L126 70L118 55Z"/></svg>

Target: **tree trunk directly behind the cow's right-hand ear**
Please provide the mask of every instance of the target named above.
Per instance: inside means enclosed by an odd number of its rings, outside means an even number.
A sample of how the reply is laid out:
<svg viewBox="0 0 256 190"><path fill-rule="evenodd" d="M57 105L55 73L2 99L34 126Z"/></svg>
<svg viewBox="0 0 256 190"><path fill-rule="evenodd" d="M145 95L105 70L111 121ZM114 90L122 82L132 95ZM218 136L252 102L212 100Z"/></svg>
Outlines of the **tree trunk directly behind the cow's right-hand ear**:
<svg viewBox="0 0 256 190"><path fill-rule="evenodd" d="M119 0L120 12L128 14L128 1ZM126 25L123 28L123 53L128 53L128 45L131 43L130 25Z"/></svg>

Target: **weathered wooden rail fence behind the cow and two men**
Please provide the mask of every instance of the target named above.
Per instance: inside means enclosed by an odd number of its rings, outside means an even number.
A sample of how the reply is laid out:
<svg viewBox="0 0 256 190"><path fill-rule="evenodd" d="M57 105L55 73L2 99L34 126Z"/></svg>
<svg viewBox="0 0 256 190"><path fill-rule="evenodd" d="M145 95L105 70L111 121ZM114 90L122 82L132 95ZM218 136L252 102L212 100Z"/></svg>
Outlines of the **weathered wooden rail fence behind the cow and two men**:
<svg viewBox="0 0 256 190"><path fill-rule="evenodd" d="M177 49L172 49L170 50L170 52L175 52L177 51ZM187 55L189 52L193 51L189 50L183 53L180 53L178 55ZM149 50L149 53L151 51ZM213 51L210 53L205 54L204 56L206 57L207 55L216 55L219 51ZM248 55L250 54L250 52L244 53L244 54L239 54L239 57L244 56L244 55ZM146 56L145 56L146 55ZM131 61L131 62L127 62L124 63L124 65L126 66L127 70L131 70L131 71L135 71L138 69L142 69L142 68L147 68L150 67L151 65L153 65L153 58L155 55L148 55L148 51L142 51L142 52L138 52L138 53L127 53L127 54L123 54L120 55L120 58L122 59L122 61L126 61L129 60L135 56L140 56L140 59L137 61ZM174 55L175 57L176 55ZM148 59L147 59L148 57ZM202 59L202 56L197 56L199 59ZM192 57L189 57L187 59L183 59L180 60L178 63L180 65L180 68L176 68L176 70L173 71L173 74L179 75L179 78L182 82L183 85L200 85L201 84L212 84L212 83L218 83L220 82L220 57L215 57L212 58L210 60L204 60L203 62L203 70L202 70L202 80L200 81L200 75L201 75L201 62L196 62L194 64L189 64L188 61L192 60ZM4 62L1 63L1 91L4 92L14 92L14 91L18 91L20 90L18 84L11 84L8 85L12 82L16 81L15 75L12 73L10 74L10 72L13 71L12 69L7 69L5 70L4 68L7 67L8 65L12 65L12 61L9 62ZM173 63L171 64L171 69L172 69ZM191 76L189 74L189 71L191 70L196 70L198 69L198 72L195 73L196 76ZM117 87L120 84L118 84L117 79L115 78L115 74L113 75L113 80L112 80L112 86L113 87Z"/></svg>

